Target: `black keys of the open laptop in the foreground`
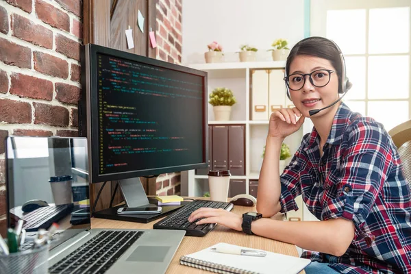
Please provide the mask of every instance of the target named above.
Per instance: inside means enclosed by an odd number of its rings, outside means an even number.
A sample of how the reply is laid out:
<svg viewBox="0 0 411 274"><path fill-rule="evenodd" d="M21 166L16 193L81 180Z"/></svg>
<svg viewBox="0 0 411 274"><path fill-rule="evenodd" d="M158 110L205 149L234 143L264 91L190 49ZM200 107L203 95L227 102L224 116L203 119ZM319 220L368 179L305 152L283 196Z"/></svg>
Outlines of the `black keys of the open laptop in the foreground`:
<svg viewBox="0 0 411 274"><path fill-rule="evenodd" d="M105 273L144 232L100 232L49 268L49 273Z"/></svg>

